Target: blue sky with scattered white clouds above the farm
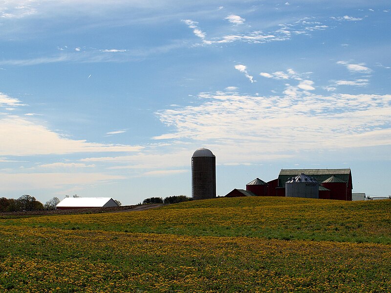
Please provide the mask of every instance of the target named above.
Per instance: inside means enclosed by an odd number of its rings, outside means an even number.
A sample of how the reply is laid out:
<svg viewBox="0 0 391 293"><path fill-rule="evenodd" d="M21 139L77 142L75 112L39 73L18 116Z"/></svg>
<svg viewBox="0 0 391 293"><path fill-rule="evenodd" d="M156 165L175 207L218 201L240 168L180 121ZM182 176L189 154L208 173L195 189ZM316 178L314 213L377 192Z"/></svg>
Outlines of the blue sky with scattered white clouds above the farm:
<svg viewBox="0 0 391 293"><path fill-rule="evenodd" d="M0 1L0 197L217 195L350 168L391 195L391 2Z"/></svg>

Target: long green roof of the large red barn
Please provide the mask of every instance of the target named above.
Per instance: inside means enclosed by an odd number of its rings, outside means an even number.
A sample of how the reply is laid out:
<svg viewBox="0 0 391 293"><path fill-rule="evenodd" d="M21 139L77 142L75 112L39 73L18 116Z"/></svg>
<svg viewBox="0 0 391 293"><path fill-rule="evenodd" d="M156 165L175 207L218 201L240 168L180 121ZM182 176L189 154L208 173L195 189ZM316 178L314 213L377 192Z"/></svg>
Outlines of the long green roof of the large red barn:
<svg viewBox="0 0 391 293"><path fill-rule="evenodd" d="M285 187L285 182L288 181L289 178L295 177L300 173L313 177L318 182L323 182L331 176L335 176L338 179L347 182L348 187L353 189L350 169L282 169L278 176L279 187Z"/></svg>

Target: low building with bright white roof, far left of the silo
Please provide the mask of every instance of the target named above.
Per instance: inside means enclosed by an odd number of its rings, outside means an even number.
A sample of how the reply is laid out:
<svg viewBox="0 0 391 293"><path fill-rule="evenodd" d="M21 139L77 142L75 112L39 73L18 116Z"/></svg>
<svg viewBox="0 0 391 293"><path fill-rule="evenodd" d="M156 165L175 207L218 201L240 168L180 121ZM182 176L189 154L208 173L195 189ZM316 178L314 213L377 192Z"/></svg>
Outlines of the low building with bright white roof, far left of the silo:
<svg viewBox="0 0 391 293"><path fill-rule="evenodd" d="M65 197L57 209L87 209L118 207L111 197Z"/></svg>

